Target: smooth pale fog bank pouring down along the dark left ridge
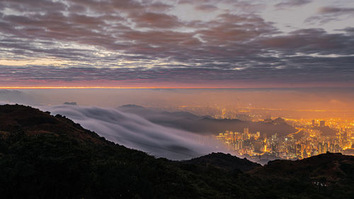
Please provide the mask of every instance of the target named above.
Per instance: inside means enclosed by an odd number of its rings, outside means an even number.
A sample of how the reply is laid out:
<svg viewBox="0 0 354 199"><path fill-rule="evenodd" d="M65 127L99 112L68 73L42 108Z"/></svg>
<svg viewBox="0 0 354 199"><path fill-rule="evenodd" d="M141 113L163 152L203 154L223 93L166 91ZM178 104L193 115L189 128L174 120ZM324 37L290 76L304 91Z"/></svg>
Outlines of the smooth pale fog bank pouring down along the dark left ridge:
<svg viewBox="0 0 354 199"><path fill-rule="evenodd" d="M156 125L139 115L124 113L115 108L66 105L37 108L48 110L52 115L65 115L107 140L156 157L191 159L216 151L215 146L197 142L198 135L192 132Z"/></svg>

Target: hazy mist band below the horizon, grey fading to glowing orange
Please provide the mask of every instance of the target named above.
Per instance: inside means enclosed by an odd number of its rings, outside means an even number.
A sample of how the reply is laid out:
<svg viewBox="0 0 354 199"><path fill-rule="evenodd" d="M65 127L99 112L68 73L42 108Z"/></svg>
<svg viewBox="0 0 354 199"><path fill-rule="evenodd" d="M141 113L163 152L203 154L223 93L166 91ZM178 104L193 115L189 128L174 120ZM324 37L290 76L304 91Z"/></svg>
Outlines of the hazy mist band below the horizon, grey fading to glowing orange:
<svg viewBox="0 0 354 199"><path fill-rule="evenodd" d="M28 89L1 90L0 101L32 106L113 107L138 104L163 111L215 115L222 109L272 117L354 118L353 88L309 89Z"/></svg>

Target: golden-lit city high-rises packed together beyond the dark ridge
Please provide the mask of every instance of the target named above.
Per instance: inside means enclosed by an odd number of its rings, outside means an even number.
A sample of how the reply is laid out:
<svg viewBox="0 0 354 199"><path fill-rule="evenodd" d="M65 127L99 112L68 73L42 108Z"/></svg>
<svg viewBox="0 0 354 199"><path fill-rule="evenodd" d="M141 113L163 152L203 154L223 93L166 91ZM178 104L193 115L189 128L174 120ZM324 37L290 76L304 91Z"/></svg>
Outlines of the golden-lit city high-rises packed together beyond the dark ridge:
<svg viewBox="0 0 354 199"><path fill-rule="evenodd" d="M333 130L335 135L324 135L326 128L324 120L319 125L312 120L311 124L297 125L297 132L287 136L261 136L261 132L226 131L219 133L216 138L238 155L251 157L272 156L281 159L303 159L326 152L354 153L353 127ZM327 127L329 128L329 127ZM352 151L350 151L352 150Z"/></svg>

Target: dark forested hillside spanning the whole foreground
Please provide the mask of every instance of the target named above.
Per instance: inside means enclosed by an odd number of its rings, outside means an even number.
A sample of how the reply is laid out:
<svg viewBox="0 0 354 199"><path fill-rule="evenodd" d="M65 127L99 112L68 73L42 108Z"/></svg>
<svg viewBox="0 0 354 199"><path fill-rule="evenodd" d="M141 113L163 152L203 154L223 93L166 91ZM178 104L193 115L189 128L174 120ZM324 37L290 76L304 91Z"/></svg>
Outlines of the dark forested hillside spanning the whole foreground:
<svg viewBox="0 0 354 199"><path fill-rule="evenodd" d="M341 154L266 166L156 159L62 115L0 106L1 198L353 198L353 165Z"/></svg>

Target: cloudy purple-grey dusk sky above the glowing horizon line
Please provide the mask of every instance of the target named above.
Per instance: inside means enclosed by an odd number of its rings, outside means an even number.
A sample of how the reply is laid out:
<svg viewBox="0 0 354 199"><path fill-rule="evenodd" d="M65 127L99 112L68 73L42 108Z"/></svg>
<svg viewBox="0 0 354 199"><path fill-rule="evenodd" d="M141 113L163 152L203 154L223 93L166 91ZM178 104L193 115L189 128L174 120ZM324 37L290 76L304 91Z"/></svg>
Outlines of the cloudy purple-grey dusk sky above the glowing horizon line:
<svg viewBox="0 0 354 199"><path fill-rule="evenodd" d="M0 87L353 84L353 0L0 0Z"/></svg>

